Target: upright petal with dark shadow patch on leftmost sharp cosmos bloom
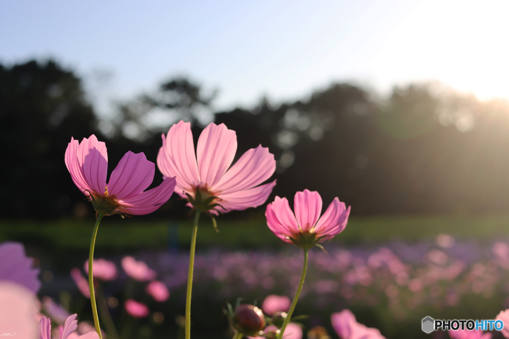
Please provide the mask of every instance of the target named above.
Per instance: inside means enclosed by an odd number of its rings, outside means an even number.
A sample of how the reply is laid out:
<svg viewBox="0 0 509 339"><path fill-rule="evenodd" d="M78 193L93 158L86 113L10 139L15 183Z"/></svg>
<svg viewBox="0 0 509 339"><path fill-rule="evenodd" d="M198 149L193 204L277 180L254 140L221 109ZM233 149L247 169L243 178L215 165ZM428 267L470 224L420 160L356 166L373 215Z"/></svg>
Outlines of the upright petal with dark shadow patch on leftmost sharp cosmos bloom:
<svg viewBox="0 0 509 339"><path fill-rule="evenodd" d="M108 172L108 153L106 144L98 141L95 135L83 138L76 149L78 166L83 178L98 195L104 195Z"/></svg>

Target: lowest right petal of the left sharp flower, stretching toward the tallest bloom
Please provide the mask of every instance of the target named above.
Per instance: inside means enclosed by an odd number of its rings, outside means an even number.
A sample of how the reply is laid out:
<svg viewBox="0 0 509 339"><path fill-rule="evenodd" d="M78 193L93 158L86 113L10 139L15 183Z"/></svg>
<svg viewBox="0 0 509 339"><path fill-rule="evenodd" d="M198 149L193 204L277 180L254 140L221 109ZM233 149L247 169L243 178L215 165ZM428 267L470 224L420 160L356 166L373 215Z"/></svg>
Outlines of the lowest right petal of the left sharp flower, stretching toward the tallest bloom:
<svg viewBox="0 0 509 339"><path fill-rule="evenodd" d="M118 207L118 210L135 215L152 213L168 201L175 190L175 185L175 177L167 177L156 188L119 200L120 207Z"/></svg>

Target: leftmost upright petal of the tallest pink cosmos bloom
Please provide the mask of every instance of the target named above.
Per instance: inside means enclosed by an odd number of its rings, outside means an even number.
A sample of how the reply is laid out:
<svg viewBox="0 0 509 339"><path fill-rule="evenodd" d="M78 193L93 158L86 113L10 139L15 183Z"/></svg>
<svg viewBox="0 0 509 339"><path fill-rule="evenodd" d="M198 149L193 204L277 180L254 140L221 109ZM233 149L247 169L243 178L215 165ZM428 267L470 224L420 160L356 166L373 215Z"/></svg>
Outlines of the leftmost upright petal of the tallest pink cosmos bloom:
<svg viewBox="0 0 509 339"><path fill-rule="evenodd" d="M191 124L181 120L169 129L167 138L164 134L161 137L157 167L164 176L177 177L175 192L185 197L183 191L193 193L194 188L200 186Z"/></svg>

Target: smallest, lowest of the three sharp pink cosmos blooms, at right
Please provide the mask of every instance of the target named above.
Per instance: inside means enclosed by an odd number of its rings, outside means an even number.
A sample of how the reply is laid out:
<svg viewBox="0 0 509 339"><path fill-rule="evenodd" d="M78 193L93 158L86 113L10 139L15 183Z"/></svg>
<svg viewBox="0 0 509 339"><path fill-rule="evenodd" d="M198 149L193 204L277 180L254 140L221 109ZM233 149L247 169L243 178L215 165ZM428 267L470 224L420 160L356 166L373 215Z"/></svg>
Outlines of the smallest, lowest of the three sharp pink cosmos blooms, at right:
<svg viewBox="0 0 509 339"><path fill-rule="evenodd" d="M274 202L267 205L265 217L276 236L302 248L310 248L342 232L350 214L350 207L347 209L336 197L320 217L322 197L308 190L295 194L294 210L295 214L286 198L276 196Z"/></svg>

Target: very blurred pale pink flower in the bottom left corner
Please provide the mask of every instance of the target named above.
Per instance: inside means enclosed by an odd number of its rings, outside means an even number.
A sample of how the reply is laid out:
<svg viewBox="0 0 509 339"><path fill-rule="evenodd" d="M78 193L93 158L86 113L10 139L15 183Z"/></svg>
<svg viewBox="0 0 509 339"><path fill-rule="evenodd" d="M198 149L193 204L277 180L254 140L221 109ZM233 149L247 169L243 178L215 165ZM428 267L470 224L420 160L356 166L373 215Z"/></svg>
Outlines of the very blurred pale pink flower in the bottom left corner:
<svg viewBox="0 0 509 339"><path fill-rule="evenodd" d="M0 281L0 305L0 335L11 333L17 339L37 336L39 302L33 291L12 281Z"/></svg>

